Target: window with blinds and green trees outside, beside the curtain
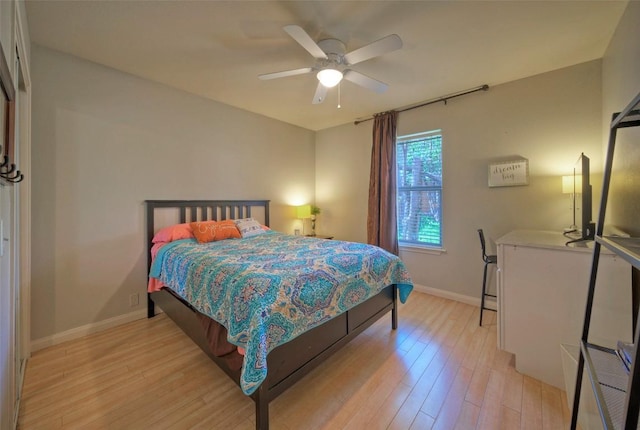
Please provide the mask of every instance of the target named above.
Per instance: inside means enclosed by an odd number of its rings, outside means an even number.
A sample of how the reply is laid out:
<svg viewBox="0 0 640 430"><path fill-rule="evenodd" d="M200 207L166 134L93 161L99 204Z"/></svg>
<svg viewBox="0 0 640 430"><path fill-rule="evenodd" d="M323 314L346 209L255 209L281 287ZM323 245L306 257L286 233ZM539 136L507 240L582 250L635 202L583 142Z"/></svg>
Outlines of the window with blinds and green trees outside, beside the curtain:
<svg viewBox="0 0 640 430"><path fill-rule="evenodd" d="M442 134L396 139L398 242L442 247Z"/></svg>

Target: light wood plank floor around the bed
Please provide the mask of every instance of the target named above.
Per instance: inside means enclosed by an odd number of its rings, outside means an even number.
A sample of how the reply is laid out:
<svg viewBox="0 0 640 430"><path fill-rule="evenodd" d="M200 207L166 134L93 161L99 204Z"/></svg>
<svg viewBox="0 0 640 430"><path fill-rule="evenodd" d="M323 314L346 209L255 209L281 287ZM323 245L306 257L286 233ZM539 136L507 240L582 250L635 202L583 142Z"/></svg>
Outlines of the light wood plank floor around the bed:
<svg viewBox="0 0 640 430"><path fill-rule="evenodd" d="M271 403L271 428L567 429L564 391L515 371L495 313L413 292ZM19 428L247 429L254 404L167 317L33 354Z"/></svg>

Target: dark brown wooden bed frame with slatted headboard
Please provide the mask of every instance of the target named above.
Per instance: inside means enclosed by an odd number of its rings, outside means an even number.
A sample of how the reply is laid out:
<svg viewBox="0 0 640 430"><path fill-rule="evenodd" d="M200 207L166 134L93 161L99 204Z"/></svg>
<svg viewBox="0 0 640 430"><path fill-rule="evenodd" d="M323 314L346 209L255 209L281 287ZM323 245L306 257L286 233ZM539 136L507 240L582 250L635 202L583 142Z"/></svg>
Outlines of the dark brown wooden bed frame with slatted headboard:
<svg viewBox="0 0 640 430"><path fill-rule="evenodd" d="M151 240L159 229L156 210L178 210L176 223L200 220L223 220L251 217L264 211L265 225L269 225L269 200L147 200L148 268L151 266ZM155 315L155 305L171 318L227 375L240 385L240 371L229 369L224 359L209 349L197 312L189 303L167 288L147 294L147 316ZM302 379L326 358L346 345L387 312L391 311L391 327L398 327L397 287L390 285L376 296L342 315L296 337L273 351L267 357L269 373L264 382L251 395L256 406L256 429L269 428L269 402Z"/></svg>

